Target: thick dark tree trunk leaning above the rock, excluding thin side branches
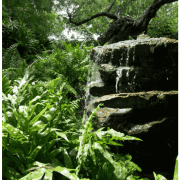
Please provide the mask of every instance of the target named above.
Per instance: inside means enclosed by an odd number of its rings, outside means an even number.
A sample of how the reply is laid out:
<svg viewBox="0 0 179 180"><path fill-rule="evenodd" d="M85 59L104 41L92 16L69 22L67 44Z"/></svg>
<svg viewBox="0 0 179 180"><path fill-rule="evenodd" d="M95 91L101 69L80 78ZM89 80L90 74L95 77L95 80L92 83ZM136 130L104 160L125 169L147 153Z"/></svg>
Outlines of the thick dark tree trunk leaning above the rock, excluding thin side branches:
<svg viewBox="0 0 179 180"><path fill-rule="evenodd" d="M152 4L145 9L143 15L137 19L132 19L129 16L118 17L114 20L99 38L98 42L103 46L106 42L108 44L117 43L119 41L128 40L129 35L134 39L142 32L147 33L147 26L152 18L156 16L158 9L166 4L174 2L175 0L154 0Z"/></svg>

